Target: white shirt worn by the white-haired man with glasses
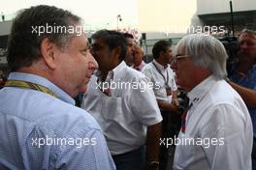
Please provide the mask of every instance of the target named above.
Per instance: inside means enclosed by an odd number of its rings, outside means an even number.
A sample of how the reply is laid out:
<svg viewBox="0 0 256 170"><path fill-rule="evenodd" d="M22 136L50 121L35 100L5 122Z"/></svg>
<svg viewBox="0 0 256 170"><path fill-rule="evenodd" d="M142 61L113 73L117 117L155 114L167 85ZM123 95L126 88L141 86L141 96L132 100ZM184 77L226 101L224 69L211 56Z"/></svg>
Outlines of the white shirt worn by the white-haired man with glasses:
<svg viewBox="0 0 256 170"><path fill-rule="evenodd" d="M211 75L188 98L192 106L178 134L183 144L176 143L174 169L251 170L252 124L240 95Z"/></svg>

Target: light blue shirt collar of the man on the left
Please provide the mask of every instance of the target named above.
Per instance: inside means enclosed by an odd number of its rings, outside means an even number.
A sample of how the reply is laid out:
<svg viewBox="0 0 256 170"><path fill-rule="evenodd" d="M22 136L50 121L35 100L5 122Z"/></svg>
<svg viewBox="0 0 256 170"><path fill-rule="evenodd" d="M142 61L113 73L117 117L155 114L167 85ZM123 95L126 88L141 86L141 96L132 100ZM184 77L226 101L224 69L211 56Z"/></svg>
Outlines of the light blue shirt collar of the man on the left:
<svg viewBox="0 0 256 170"><path fill-rule="evenodd" d="M29 81L31 83L40 84L42 86L47 87L51 92L53 92L58 99L61 99L65 102L71 103L75 105L75 100L72 99L66 92L61 90L59 87L50 82L47 78L32 74L32 73L24 73L24 72L11 72L8 77L9 80L21 80L21 81Z"/></svg>

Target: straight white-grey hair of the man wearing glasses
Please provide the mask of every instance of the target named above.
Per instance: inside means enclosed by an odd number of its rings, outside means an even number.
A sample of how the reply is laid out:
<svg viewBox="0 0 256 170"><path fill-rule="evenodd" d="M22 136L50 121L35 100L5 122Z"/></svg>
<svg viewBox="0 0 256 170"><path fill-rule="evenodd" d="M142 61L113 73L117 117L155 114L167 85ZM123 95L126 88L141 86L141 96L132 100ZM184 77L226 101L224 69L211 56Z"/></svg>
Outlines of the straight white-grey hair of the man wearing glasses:
<svg viewBox="0 0 256 170"><path fill-rule="evenodd" d="M224 45L206 34L191 34L182 38L177 44L175 54L184 49L195 65L208 68L217 79L227 77L226 60L228 55Z"/></svg>

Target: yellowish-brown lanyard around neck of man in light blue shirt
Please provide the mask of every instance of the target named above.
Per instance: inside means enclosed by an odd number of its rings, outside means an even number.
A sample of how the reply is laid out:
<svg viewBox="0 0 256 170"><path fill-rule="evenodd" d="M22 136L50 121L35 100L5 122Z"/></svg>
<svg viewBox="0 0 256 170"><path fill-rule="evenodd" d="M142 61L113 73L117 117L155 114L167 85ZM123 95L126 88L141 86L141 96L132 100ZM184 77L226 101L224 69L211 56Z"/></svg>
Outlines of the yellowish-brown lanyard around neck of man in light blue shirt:
<svg viewBox="0 0 256 170"><path fill-rule="evenodd" d="M40 92L46 93L52 97L57 98L57 96L53 92L51 92L47 87L42 86L40 84L31 83L28 81L7 80L5 83L5 87L19 87L19 88L25 88L25 89L33 89L33 90L40 91Z"/></svg>

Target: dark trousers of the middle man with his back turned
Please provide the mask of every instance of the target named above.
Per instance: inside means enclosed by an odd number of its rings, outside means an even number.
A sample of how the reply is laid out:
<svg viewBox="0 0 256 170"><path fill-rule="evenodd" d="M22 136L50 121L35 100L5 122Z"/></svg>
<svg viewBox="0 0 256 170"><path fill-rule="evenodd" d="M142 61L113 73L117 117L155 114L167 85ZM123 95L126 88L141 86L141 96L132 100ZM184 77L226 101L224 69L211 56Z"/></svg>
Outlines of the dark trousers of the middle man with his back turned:
<svg viewBox="0 0 256 170"><path fill-rule="evenodd" d="M112 156L116 170L140 170L145 162L144 146L122 155Z"/></svg>

